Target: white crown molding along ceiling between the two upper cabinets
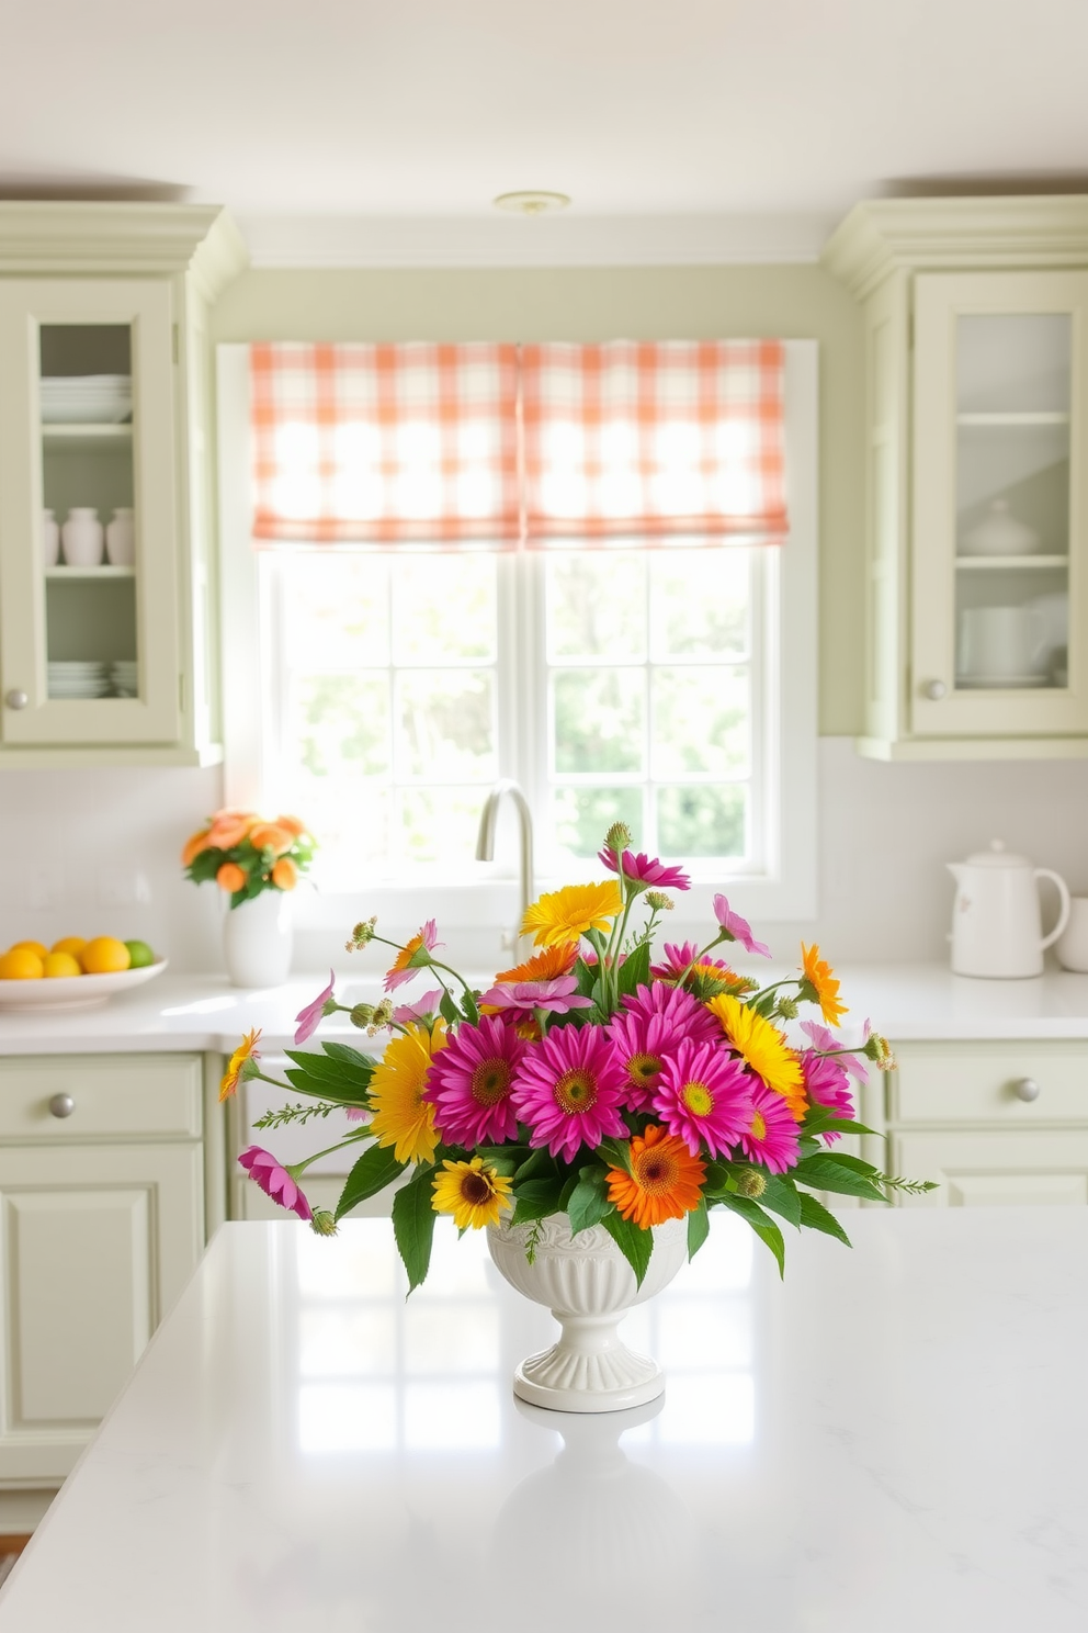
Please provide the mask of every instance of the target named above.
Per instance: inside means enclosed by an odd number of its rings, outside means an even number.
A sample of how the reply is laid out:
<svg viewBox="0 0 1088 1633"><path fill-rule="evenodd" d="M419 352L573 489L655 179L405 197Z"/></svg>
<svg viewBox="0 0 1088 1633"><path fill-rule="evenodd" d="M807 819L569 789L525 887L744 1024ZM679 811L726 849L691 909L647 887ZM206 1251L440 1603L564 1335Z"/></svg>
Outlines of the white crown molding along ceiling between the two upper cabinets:
<svg viewBox="0 0 1088 1633"><path fill-rule="evenodd" d="M241 216L254 268L816 263L825 216Z"/></svg>

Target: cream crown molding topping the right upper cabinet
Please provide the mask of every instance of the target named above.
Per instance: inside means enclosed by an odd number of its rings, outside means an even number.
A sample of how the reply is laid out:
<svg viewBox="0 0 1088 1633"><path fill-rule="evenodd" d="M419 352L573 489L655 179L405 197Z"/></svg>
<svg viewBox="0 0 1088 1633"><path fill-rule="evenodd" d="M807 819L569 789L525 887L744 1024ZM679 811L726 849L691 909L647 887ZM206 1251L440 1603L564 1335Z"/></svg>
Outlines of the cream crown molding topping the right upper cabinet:
<svg viewBox="0 0 1088 1633"><path fill-rule="evenodd" d="M822 265L858 299L900 268L1088 265L1088 196L871 199L824 247Z"/></svg>

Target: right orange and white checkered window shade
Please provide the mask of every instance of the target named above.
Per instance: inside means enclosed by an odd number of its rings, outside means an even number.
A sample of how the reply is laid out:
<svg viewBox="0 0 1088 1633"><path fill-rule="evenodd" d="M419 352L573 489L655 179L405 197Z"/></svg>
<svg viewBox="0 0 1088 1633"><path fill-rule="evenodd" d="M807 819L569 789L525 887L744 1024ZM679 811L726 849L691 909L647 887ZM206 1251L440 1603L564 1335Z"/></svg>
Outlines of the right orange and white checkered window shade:
<svg viewBox="0 0 1088 1633"><path fill-rule="evenodd" d="M781 341L522 348L530 544L786 534Z"/></svg>

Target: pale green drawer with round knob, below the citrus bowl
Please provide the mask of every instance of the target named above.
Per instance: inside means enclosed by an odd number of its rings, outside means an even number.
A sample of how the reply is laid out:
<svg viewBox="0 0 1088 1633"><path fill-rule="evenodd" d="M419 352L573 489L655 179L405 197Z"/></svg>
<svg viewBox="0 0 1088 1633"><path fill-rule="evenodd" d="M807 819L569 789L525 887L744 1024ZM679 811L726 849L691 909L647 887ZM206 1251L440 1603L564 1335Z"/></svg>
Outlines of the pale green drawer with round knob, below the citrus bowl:
<svg viewBox="0 0 1088 1633"><path fill-rule="evenodd" d="M0 1141L201 1137L199 1055L73 1055L0 1061ZM57 1117L54 1096L73 1109Z"/></svg>

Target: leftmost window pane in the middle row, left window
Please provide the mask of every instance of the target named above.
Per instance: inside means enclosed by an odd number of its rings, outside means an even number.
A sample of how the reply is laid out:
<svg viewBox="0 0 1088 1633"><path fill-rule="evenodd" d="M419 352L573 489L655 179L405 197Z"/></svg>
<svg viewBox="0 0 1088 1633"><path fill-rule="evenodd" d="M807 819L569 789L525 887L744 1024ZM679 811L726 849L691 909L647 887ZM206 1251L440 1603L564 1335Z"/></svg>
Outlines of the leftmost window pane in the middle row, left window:
<svg viewBox="0 0 1088 1633"><path fill-rule="evenodd" d="M385 674L300 674L292 686L292 758L315 777L382 776L390 769Z"/></svg>

